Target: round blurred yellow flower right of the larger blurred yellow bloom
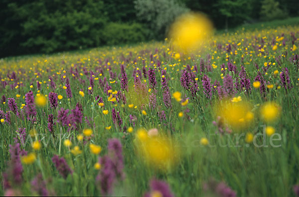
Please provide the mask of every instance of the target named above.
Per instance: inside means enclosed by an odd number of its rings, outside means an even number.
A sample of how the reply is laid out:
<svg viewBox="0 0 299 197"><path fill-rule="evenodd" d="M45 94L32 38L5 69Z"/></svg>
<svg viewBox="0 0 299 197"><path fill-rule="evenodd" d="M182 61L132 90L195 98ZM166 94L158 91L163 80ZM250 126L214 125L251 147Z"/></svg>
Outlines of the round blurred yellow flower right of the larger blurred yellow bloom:
<svg viewBox="0 0 299 197"><path fill-rule="evenodd" d="M265 103L261 107L261 115L266 122L272 122L276 120L280 115L279 106L274 102Z"/></svg>

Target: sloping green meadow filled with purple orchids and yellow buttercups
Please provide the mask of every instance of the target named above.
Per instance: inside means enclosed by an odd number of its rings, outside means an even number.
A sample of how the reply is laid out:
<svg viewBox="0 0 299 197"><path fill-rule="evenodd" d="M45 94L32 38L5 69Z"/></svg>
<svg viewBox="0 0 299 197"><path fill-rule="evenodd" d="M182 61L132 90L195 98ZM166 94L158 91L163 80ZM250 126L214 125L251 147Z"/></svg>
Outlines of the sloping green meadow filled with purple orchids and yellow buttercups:
<svg viewBox="0 0 299 197"><path fill-rule="evenodd" d="M299 25L0 60L0 195L299 196Z"/></svg>

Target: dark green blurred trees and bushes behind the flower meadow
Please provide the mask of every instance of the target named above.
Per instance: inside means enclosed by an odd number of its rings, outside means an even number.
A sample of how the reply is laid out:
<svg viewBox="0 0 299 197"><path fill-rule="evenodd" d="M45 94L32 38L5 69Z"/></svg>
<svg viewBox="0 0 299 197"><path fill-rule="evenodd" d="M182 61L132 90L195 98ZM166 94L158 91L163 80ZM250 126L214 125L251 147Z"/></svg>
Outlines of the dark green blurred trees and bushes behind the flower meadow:
<svg viewBox="0 0 299 197"><path fill-rule="evenodd" d="M298 0L1 0L0 57L163 39L188 10L219 29L298 16Z"/></svg>

